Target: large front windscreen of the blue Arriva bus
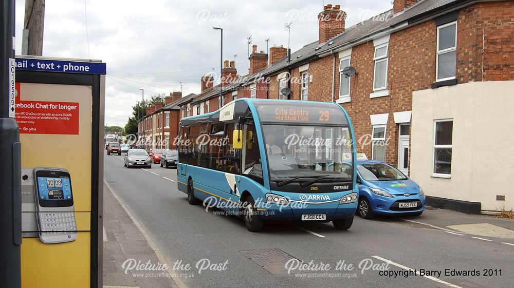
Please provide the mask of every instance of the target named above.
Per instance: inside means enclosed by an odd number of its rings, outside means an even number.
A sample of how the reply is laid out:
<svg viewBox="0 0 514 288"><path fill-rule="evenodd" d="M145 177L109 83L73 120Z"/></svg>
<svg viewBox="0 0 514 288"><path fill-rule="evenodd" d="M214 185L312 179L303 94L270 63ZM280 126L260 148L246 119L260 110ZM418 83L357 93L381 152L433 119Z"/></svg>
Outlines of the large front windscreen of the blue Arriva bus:
<svg viewBox="0 0 514 288"><path fill-rule="evenodd" d="M271 181L352 179L348 127L263 125L263 133Z"/></svg>

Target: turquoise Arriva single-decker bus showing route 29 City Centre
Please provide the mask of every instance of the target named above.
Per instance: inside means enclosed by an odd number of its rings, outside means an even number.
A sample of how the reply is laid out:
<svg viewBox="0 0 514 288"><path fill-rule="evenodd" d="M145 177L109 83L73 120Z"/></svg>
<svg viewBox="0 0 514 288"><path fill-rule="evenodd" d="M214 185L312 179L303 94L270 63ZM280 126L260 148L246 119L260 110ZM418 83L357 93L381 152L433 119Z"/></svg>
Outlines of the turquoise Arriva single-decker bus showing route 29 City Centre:
<svg viewBox="0 0 514 288"><path fill-rule="evenodd" d="M252 232L264 221L345 230L358 200L353 139L336 103L237 99L181 119L178 189L192 205L242 216Z"/></svg>

